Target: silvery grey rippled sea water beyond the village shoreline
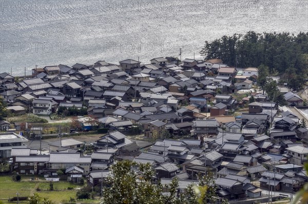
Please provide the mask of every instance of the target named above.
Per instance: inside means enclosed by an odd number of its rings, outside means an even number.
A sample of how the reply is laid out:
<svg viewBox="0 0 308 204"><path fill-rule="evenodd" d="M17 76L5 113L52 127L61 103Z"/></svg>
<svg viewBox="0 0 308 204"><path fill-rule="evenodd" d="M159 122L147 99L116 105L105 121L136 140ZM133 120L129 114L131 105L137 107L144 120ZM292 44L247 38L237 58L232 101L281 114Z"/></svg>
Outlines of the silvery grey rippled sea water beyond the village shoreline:
<svg viewBox="0 0 308 204"><path fill-rule="evenodd" d="M202 58L204 41L307 32L308 1L0 1L0 72L126 58Z"/></svg>

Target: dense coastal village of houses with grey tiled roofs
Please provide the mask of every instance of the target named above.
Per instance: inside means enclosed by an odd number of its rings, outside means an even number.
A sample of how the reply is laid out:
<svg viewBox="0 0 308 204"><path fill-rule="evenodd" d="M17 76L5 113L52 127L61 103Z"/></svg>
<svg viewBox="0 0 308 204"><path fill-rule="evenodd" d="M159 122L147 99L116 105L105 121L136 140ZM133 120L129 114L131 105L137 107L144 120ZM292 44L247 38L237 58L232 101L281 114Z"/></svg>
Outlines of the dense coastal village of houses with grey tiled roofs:
<svg viewBox="0 0 308 204"><path fill-rule="evenodd" d="M219 199L254 200L268 190L291 197L308 181L308 129L298 128L307 118L297 109L304 102L282 87L288 106L277 107L258 91L257 79L257 68L173 57L47 66L20 81L1 73L0 95L14 115L86 107L88 116L79 117L82 128L74 131L108 132L92 141L92 153L80 153L84 142L72 134L42 154L24 145L33 138L21 135L18 124L2 120L0 157L11 158L17 174L56 179L65 168L66 179L84 177L92 186L104 185L110 166L128 159L151 164L163 184L178 178L179 193L211 172ZM238 99L239 93L246 96ZM134 127L150 145L141 148L127 137Z"/></svg>

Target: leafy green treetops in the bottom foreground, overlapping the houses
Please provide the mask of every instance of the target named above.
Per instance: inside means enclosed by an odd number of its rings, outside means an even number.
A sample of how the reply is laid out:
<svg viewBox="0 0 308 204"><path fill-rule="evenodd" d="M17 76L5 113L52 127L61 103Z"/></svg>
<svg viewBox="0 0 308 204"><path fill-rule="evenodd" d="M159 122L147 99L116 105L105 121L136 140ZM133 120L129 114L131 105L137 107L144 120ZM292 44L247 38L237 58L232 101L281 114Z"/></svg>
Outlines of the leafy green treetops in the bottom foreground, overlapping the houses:
<svg viewBox="0 0 308 204"><path fill-rule="evenodd" d="M168 185L152 182L155 171L150 164L120 161L111 167L111 172L101 204L203 204L217 201L216 185L211 175L202 177L199 186L189 185L180 195L177 179Z"/></svg>

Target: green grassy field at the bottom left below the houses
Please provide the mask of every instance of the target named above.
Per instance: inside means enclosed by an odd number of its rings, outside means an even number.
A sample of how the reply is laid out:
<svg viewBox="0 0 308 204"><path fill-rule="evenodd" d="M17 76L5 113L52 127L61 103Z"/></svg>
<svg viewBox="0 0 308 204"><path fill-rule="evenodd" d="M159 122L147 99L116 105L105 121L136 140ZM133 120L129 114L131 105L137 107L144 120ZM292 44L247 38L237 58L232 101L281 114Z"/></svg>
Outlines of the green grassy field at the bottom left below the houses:
<svg viewBox="0 0 308 204"><path fill-rule="evenodd" d="M67 190L68 187L72 187L73 190ZM81 186L66 181L58 181L53 182L54 190L49 191L49 181L46 181L43 177L33 181L30 180L30 176L22 176L20 182L15 182L12 180L11 176L0 176L0 200L4 203L9 203L8 199L16 197L17 192L20 197L29 197L33 193L38 193L41 197L49 198L54 201L54 203L64 203L68 202L70 198L76 198L76 191L78 191L78 188L81 188ZM92 203L98 201L89 200L84 202Z"/></svg>

